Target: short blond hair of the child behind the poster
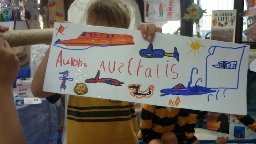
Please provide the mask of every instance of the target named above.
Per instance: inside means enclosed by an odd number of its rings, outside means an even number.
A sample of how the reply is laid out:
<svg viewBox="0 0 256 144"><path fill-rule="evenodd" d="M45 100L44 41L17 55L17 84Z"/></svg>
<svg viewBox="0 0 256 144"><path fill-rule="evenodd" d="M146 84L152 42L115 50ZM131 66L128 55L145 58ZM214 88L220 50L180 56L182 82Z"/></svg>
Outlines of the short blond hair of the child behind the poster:
<svg viewBox="0 0 256 144"><path fill-rule="evenodd" d="M126 4L119 0L95 0L88 8L87 20L91 16L96 16L97 20L105 20L110 25L111 22L121 24L122 28L130 26L130 12Z"/></svg>

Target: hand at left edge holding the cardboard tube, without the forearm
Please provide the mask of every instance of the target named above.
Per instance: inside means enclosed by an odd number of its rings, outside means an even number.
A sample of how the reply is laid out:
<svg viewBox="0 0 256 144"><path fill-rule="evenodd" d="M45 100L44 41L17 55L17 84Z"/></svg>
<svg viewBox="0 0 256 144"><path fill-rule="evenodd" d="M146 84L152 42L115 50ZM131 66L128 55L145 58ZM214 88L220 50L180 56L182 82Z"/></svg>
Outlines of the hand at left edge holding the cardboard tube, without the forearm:
<svg viewBox="0 0 256 144"><path fill-rule="evenodd" d="M1 27L0 27L1 30ZM20 60L12 51L10 45L0 34L0 87L12 86L20 69Z"/></svg>

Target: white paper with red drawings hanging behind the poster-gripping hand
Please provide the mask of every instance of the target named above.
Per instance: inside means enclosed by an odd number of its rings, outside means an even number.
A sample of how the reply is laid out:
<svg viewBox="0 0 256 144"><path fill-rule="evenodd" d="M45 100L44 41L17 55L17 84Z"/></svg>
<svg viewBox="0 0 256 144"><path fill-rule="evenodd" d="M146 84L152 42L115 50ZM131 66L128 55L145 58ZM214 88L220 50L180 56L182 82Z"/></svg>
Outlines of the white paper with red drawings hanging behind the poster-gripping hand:
<svg viewBox="0 0 256 144"><path fill-rule="evenodd" d="M144 0L145 22L162 27L167 21L180 20L179 0Z"/></svg>

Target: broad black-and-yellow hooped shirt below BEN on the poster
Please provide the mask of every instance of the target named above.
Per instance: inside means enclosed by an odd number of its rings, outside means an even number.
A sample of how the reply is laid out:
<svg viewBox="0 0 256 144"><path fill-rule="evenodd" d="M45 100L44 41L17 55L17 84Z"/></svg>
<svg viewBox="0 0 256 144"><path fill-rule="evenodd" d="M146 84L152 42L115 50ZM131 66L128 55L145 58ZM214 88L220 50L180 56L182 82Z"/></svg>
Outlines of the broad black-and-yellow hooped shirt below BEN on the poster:
<svg viewBox="0 0 256 144"><path fill-rule="evenodd" d="M193 143L194 128L199 117L206 112L183 108L173 108L143 104L140 118L140 132L137 134L145 143L153 139L161 139L163 133L175 132L178 141L187 140Z"/></svg>

